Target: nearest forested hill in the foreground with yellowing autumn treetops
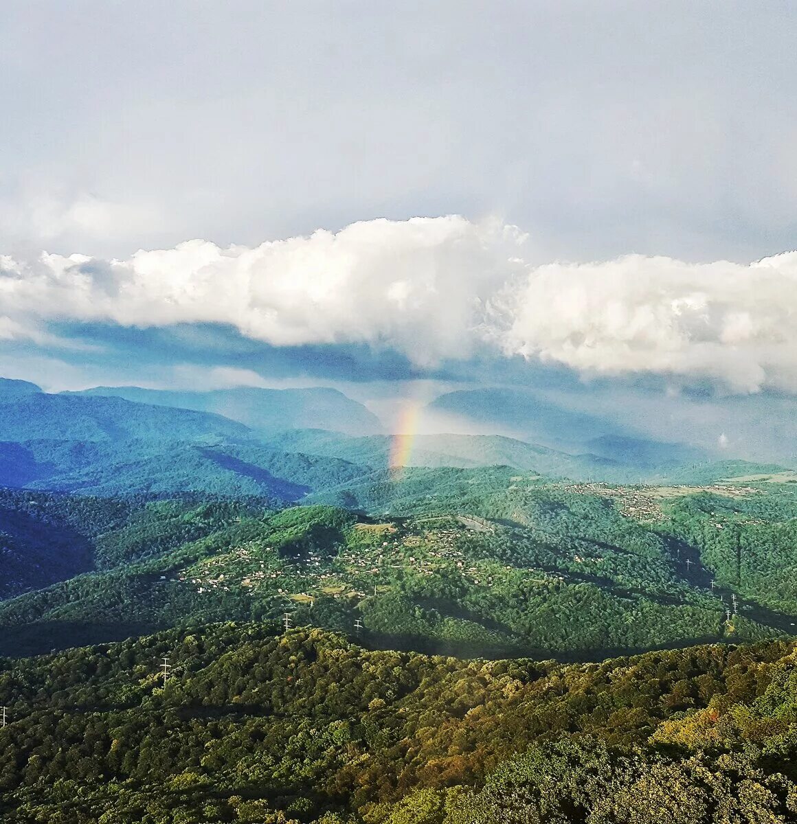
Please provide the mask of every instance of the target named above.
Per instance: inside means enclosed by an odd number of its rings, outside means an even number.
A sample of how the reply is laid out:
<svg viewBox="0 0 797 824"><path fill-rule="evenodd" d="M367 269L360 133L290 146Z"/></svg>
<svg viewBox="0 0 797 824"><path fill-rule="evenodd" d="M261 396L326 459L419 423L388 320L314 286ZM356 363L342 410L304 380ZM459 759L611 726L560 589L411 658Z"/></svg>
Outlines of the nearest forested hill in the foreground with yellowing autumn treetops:
<svg viewBox="0 0 797 824"><path fill-rule="evenodd" d="M563 666L223 624L0 667L7 824L797 816L794 644Z"/></svg>

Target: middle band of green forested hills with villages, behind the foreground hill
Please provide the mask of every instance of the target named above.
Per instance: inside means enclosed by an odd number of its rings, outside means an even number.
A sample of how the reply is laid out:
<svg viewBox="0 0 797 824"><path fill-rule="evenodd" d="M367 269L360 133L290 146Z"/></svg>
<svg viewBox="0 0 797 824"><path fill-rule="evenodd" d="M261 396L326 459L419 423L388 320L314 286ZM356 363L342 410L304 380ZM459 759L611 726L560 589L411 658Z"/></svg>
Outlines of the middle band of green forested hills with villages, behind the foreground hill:
<svg viewBox="0 0 797 824"><path fill-rule="evenodd" d="M30 592L0 602L0 652L286 613L293 625L359 625L375 646L492 658L794 633L790 485L654 489L506 473L434 471L434 494L426 471L380 482L399 490L396 514L264 497L7 493L20 514L35 501L52 513L26 521L40 552L80 540L71 572L50 568L63 580L33 588L34 564L18 582Z"/></svg>

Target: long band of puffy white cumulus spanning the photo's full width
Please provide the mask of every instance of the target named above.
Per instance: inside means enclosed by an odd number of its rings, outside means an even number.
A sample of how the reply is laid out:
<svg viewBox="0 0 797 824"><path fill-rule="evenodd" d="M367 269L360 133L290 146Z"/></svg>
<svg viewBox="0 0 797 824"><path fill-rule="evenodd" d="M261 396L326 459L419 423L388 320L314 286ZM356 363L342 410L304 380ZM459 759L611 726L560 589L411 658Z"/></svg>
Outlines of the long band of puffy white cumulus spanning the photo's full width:
<svg viewBox="0 0 797 824"><path fill-rule="evenodd" d="M0 257L0 335L56 320L217 323L276 346L364 342L420 366L490 347L585 373L797 390L797 252L749 265L532 255L517 227L452 216L129 260Z"/></svg>

